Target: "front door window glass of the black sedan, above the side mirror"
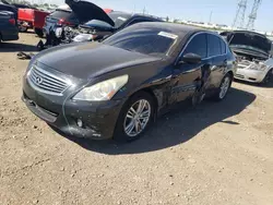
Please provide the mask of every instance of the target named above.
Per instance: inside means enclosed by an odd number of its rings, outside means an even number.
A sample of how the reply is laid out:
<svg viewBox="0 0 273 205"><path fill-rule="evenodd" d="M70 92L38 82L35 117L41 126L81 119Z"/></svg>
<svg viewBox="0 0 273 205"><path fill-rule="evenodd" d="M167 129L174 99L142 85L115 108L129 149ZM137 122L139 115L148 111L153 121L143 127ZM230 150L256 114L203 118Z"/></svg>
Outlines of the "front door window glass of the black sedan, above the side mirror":
<svg viewBox="0 0 273 205"><path fill-rule="evenodd" d="M187 55L189 52L199 55L202 59L207 57L206 52L206 34L198 34L194 36L191 41L186 47L183 55Z"/></svg>

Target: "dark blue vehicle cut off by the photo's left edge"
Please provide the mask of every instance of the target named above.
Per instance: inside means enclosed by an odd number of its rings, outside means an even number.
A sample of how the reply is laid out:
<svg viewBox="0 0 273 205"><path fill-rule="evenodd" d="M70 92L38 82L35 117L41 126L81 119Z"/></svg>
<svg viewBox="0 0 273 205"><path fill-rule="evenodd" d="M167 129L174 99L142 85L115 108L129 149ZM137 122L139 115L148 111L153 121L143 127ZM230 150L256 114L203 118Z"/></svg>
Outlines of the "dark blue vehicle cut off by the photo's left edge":
<svg viewBox="0 0 273 205"><path fill-rule="evenodd" d="M0 11L0 43L17 39L19 29L14 13L9 11Z"/></svg>

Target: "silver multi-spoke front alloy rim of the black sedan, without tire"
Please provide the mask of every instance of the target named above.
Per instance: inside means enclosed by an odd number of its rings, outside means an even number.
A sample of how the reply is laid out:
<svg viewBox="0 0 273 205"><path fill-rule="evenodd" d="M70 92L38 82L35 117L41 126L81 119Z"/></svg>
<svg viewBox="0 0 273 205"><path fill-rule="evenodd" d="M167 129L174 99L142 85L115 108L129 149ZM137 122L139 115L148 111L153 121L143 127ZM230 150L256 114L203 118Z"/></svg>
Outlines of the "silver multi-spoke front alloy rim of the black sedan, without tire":
<svg viewBox="0 0 273 205"><path fill-rule="evenodd" d="M146 99L140 99L134 102L124 118L124 133L130 137L138 136L146 128L151 113L151 105Z"/></svg>

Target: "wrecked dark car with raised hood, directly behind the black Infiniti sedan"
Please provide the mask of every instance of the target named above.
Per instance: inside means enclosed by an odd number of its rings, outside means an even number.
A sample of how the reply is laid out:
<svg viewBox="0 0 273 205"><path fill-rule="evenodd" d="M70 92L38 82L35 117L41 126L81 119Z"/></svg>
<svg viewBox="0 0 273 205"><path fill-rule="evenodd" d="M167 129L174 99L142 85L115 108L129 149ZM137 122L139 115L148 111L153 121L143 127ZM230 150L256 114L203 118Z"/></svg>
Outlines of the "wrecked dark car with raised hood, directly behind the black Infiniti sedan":
<svg viewBox="0 0 273 205"><path fill-rule="evenodd" d="M49 26L47 34L50 33L50 35L47 35L45 45L41 41L39 43L38 48L40 50L60 44L100 40L140 22L163 22L161 19L151 15L130 14L109 9L103 10L86 1L67 0L66 2L76 19L80 20L79 26L74 24Z"/></svg>

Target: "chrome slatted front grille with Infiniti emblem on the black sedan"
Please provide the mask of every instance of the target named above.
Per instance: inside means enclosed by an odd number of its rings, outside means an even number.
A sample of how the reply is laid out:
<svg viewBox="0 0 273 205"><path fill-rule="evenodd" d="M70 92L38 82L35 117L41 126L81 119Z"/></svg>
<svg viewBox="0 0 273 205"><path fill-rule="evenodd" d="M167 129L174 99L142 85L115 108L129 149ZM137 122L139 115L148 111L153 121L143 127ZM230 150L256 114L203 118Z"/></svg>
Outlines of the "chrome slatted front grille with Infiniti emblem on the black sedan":
<svg viewBox="0 0 273 205"><path fill-rule="evenodd" d="M31 69L28 81L34 88L51 95L62 95L62 93L69 87L69 83L64 80L36 65L33 65Z"/></svg>

